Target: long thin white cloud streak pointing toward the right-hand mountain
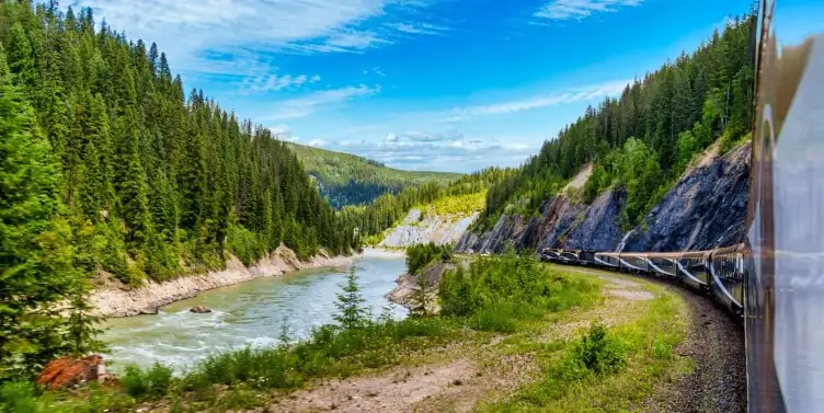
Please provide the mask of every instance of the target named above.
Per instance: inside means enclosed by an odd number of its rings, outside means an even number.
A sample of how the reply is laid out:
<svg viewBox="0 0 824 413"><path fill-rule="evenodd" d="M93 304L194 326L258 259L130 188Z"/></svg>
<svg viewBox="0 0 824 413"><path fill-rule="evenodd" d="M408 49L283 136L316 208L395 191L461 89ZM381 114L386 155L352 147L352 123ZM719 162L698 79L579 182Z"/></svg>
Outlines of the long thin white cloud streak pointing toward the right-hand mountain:
<svg viewBox="0 0 824 413"><path fill-rule="evenodd" d="M491 105L456 107L442 113L443 116L438 119L438 122L460 122L478 116L507 114L565 103L590 101L596 97L618 94L628 83L628 80L621 80L579 88L560 94L531 96L516 101L495 103Z"/></svg>

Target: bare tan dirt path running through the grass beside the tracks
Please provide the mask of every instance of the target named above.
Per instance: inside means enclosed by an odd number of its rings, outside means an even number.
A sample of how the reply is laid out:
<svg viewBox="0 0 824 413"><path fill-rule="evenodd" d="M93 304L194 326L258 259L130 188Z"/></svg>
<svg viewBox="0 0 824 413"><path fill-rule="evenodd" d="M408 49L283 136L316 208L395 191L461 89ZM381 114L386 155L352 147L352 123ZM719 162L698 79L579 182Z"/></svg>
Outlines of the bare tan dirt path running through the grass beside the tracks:
<svg viewBox="0 0 824 413"><path fill-rule="evenodd" d="M572 337L588 328L593 318L606 324L631 314L627 306L653 299L641 283L595 274L607 280L603 306L573 313L570 320L550 323L541 341ZM539 374L529 356L495 355L489 349L505 336L493 337L480 348L467 348L457 358L417 367L397 367L375 375L332 380L279 400L270 412L469 412L491 395L505 397ZM256 412L263 412L258 410ZM255 412L255 411L252 411Z"/></svg>

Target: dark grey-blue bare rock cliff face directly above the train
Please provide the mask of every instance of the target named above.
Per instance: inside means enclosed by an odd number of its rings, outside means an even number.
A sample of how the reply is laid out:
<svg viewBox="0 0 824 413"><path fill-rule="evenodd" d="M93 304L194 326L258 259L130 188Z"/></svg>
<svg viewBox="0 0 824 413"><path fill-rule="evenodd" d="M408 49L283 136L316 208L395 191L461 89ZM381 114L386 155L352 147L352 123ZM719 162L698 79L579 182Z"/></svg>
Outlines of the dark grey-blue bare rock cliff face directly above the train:
<svg viewBox="0 0 824 413"><path fill-rule="evenodd" d="M680 176L633 230L622 233L622 190L602 193L592 204L562 192L543 203L540 216L503 215L491 231L468 232L459 252L501 252L507 241L517 249L563 248L595 251L706 250L742 242L749 184L749 145L726 154L710 148ZM573 180L581 186L582 180ZM585 182L585 180L583 180Z"/></svg>

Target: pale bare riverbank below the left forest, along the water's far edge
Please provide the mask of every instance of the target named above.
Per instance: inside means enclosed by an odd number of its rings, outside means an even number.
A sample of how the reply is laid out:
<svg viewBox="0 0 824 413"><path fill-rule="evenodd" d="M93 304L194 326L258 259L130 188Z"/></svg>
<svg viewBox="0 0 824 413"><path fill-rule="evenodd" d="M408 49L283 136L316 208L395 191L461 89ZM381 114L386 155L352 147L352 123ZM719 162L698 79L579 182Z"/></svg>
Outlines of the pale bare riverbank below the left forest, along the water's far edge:
<svg viewBox="0 0 824 413"><path fill-rule="evenodd" d="M94 313L107 318L156 313L163 306L197 296L198 292L249 282L259 277L282 276L287 273L323 267L346 266L362 254L329 256L325 252L300 261L286 246L279 246L267 256L245 266L231 256L221 271L210 271L179 277L163 283L147 280L134 288L117 282L106 280L92 292L90 300Z"/></svg>

